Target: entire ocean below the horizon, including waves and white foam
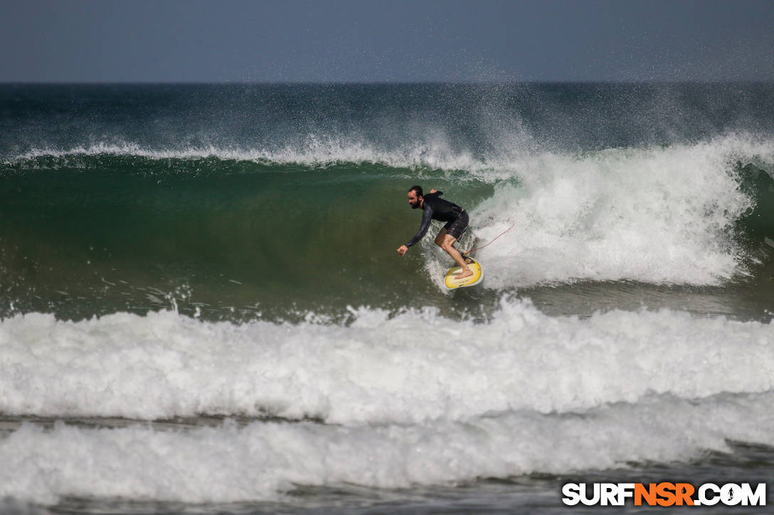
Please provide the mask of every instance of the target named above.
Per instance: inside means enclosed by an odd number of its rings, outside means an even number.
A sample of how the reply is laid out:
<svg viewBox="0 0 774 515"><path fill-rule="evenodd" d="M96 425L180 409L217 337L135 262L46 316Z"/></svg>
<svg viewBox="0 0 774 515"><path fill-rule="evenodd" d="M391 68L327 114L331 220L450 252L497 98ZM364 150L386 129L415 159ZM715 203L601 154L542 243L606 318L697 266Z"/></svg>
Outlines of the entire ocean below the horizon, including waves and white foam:
<svg viewBox="0 0 774 515"><path fill-rule="evenodd" d="M4 513L763 483L772 318L774 84L0 85Z"/></svg>

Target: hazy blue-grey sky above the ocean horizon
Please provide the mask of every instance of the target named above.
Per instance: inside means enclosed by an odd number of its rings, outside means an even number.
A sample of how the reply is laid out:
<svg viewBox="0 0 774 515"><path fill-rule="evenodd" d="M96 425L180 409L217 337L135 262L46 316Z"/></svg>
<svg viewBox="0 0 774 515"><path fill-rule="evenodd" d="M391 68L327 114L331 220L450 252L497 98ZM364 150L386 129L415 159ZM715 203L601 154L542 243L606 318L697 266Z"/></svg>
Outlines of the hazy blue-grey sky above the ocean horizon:
<svg viewBox="0 0 774 515"><path fill-rule="evenodd" d="M0 81L774 80L774 0L0 2Z"/></svg>

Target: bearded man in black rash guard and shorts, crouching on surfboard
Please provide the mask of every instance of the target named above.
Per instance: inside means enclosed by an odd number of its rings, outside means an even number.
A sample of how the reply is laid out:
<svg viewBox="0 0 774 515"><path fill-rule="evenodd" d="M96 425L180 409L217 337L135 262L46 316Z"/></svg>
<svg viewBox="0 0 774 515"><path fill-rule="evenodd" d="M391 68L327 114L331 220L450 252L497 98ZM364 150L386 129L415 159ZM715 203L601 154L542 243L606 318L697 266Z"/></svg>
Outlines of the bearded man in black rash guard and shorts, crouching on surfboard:
<svg viewBox="0 0 774 515"><path fill-rule="evenodd" d="M422 186L411 186L407 194L409 205L414 210L422 209L422 225L420 225L419 232L414 234L414 237L407 244L398 247L398 254L406 254L409 247L425 236L427 230L430 229L430 220L441 220L446 222L446 225L438 233L435 244L447 251L454 262L462 268L461 274L456 276L457 279L470 277L473 275L473 271L467 266L460 252L454 248L454 244L467 229L467 213L457 204L440 198L443 194L442 191L430 189L430 193L423 195Z"/></svg>

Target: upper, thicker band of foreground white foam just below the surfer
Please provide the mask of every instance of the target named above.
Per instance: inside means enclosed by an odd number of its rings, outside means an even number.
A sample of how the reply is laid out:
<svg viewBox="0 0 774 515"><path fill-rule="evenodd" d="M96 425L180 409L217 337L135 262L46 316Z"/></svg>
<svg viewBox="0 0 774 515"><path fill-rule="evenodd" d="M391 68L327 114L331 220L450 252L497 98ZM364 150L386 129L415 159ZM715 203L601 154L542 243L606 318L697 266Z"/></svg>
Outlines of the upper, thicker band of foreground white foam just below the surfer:
<svg viewBox="0 0 774 515"><path fill-rule="evenodd" d="M356 316L235 326L174 312L16 315L0 323L0 412L413 423L774 388L774 328L760 322L666 310L550 317L522 301L502 302L484 325L430 309Z"/></svg>

